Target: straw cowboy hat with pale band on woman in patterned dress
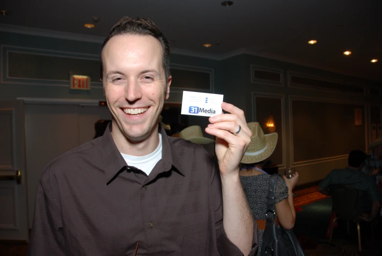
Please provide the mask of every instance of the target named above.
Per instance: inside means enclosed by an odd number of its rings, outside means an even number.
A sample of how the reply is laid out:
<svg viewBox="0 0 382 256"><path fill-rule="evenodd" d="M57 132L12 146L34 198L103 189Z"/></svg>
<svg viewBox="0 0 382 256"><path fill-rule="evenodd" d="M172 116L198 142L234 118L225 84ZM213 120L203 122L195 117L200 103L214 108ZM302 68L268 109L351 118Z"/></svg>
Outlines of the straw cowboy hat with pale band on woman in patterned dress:
<svg viewBox="0 0 382 256"><path fill-rule="evenodd" d="M252 132L252 137L241 163L258 163L266 160L276 147L277 133L264 135L258 122L247 123L247 125Z"/></svg>

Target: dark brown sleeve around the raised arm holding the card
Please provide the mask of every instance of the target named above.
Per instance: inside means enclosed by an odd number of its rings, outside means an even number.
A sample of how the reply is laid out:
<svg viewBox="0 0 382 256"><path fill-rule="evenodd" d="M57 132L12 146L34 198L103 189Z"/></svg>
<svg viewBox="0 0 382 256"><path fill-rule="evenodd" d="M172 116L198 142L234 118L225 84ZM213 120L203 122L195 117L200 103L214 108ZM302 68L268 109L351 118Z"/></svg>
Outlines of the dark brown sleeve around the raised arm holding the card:
<svg viewBox="0 0 382 256"><path fill-rule="evenodd" d="M221 256L244 256L240 249L232 243L224 230L223 226L223 195L222 183L220 180L220 172L218 164L214 164L214 173L212 177L212 203L214 207L216 242L218 252ZM259 246L259 235L256 221L253 221L252 249L249 256L255 256Z"/></svg>

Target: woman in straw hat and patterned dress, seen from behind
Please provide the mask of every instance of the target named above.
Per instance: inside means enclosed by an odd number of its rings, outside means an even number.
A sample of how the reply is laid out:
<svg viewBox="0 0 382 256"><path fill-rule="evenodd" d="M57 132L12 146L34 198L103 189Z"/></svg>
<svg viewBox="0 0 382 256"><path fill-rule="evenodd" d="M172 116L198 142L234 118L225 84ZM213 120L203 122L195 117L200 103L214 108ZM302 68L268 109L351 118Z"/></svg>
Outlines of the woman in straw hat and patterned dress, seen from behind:
<svg viewBox="0 0 382 256"><path fill-rule="evenodd" d="M243 190L247 196L249 208L259 229L259 249L257 255L261 254L263 234L266 226L267 194L270 175L262 170L265 160L273 153L277 143L277 133L264 135L258 122L247 124L252 132L251 142L241 161L242 169L240 179ZM275 223L280 223L285 229L292 229L296 219L293 205L292 190L298 181L296 172L291 179L277 178L277 189L275 192Z"/></svg>

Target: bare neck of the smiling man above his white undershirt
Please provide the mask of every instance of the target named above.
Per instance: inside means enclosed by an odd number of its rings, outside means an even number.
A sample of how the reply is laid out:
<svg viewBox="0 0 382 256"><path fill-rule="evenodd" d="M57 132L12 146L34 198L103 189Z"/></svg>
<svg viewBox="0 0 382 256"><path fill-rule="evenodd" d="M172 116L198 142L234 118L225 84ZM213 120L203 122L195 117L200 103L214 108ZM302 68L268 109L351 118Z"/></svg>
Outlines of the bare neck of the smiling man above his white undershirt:
<svg viewBox="0 0 382 256"><path fill-rule="evenodd" d="M129 156L142 157L154 152L159 145L159 135L155 129L149 137L141 141L132 141L121 133L112 133L118 151Z"/></svg>

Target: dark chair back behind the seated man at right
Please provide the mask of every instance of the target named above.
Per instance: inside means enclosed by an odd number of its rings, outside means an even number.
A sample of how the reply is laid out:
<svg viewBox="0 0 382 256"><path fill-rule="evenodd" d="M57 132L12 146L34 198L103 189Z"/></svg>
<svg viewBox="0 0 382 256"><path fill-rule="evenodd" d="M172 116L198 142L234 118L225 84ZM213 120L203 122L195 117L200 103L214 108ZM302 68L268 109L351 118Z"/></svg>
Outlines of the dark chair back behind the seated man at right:
<svg viewBox="0 0 382 256"><path fill-rule="evenodd" d="M337 217L354 220L358 216L358 190L346 185L332 185L329 187L332 195L333 210Z"/></svg>

